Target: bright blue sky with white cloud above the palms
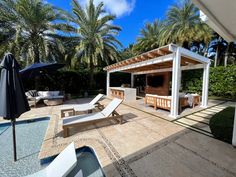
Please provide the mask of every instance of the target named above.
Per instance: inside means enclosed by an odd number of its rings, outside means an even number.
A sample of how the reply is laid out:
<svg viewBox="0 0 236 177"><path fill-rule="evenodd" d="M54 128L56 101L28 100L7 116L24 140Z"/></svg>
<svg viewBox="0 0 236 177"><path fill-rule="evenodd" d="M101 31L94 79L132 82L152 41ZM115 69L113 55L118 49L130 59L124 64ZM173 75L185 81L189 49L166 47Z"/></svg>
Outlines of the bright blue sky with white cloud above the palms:
<svg viewBox="0 0 236 177"><path fill-rule="evenodd" d="M49 3L71 11L71 0L47 0ZM86 4L87 0L78 0ZM176 0L94 0L95 3L103 1L109 13L117 16L113 24L122 28L117 37L124 47L136 41L140 29L145 22L165 18L170 5Z"/></svg>

